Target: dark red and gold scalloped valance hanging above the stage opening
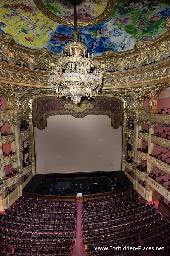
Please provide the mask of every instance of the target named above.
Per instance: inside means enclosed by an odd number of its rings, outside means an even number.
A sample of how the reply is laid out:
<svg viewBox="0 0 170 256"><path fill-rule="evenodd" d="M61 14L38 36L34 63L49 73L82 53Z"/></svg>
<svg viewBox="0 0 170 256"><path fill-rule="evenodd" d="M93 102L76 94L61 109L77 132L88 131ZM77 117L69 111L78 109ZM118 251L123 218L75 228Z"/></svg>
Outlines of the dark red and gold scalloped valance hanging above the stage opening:
<svg viewBox="0 0 170 256"><path fill-rule="evenodd" d="M46 119L51 115L72 115L83 118L87 115L107 115L111 118L114 129L123 125L123 102L113 97L96 97L80 102L75 107L68 99L56 96L37 97L32 102L32 118L34 127L43 130L47 126Z"/></svg>

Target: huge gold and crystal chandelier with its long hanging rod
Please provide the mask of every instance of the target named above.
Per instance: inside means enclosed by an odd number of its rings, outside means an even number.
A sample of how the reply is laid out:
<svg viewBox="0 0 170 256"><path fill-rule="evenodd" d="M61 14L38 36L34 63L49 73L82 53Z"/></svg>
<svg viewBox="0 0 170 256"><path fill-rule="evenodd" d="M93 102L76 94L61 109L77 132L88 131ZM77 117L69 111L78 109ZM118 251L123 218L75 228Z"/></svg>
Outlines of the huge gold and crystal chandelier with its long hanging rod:
<svg viewBox="0 0 170 256"><path fill-rule="evenodd" d="M82 97L96 97L102 85L102 72L94 68L93 54L87 54L87 47L80 41L77 31L77 10L74 0L74 32L72 41L61 50L60 58L54 65L48 80L57 97L71 97L77 104ZM79 4L79 3L78 3Z"/></svg>

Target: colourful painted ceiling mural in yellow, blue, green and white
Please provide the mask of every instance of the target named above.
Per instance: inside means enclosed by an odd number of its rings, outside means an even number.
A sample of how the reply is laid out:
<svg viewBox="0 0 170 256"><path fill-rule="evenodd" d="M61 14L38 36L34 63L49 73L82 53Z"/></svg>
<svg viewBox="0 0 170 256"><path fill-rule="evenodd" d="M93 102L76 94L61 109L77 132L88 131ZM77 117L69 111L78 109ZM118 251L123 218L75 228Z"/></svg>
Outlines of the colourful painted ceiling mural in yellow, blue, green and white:
<svg viewBox="0 0 170 256"><path fill-rule="evenodd" d="M58 0L62 8L57 9L56 0L43 0L46 8L65 19L72 19L73 13L66 0ZM103 10L97 8L105 0L87 0L77 10L89 20ZM50 7L49 7L50 6ZM52 7L51 7L52 6ZM50 11L52 11L50 9ZM80 13L81 13L80 12ZM106 50L124 52L133 49L136 40L155 39L167 31L165 20L170 16L169 0L118 0L111 15L99 24L78 28L82 43L94 56ZM83 19L78 15L78 19ZM60 49L71 41L73 27L50 20L39 11L33 0L0 1L0 33L9 33L14 40L32 49L47 47L59 54Z"/></svg>

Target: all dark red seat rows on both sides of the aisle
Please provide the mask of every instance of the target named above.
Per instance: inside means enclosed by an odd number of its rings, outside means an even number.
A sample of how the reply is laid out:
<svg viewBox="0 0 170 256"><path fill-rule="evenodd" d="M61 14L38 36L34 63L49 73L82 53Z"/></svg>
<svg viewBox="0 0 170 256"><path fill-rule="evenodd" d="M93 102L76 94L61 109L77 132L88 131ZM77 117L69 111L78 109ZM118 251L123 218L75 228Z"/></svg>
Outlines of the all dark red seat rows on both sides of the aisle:
<svg viewBox="0 0 170 256"><path fill-rule="evenodd" d="M159 176L160 177L160 176ZM76 239L76 201L20 197L0 218L0 255L71 256ZM87 256L141 255L141 251L96 251L94 247L164 246L170 251L170 223L135 190L82 201L82 245ZM164 255L160 251L157 254Z"/></svg>

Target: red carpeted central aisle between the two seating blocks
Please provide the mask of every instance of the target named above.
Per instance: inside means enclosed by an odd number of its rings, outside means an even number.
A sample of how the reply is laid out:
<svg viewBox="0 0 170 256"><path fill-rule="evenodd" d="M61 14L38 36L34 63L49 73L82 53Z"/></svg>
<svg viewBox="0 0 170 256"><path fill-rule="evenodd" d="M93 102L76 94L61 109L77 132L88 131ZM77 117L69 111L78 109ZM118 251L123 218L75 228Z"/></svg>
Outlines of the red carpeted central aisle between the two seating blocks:
<svg viewBox="0 0 170 256"><path fill-rule="evenodd" d="M77 233L76 246L73 247L73 256L86 256L84 246L82 246L82 202L77 202Z"/></svg>

